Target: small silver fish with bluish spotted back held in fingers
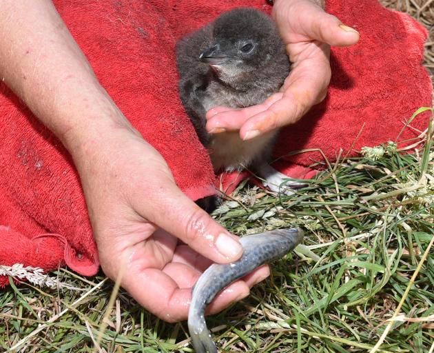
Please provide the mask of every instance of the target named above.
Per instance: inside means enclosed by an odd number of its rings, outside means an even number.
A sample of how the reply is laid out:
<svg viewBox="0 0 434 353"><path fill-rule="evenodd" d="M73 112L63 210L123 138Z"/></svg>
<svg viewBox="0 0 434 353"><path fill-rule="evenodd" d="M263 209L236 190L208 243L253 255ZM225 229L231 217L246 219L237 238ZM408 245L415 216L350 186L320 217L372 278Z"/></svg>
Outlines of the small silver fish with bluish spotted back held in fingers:
<svg viewBox="0 0 434 353"><path fill-rule="evenodd" d="M258 266L284 256L302 239L303 232L299 228L244 236L240 239L244 253L238 261L225 265L214 263L203 272L194 285L188 313L188 329L196 353L217 353L205 322L205 308L214 296Z"/></svg>

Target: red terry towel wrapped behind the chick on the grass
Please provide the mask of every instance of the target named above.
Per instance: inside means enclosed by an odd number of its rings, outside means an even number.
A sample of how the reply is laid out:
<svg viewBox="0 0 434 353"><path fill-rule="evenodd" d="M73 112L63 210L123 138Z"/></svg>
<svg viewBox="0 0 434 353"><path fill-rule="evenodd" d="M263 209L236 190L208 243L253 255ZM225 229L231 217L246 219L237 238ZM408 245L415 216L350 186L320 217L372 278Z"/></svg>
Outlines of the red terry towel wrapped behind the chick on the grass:
<svg viewBox="0 0 434 353"><path fill-rule="evenodd" d="M163 154L180 188L192 199L211 194L211 163L178 99L175 43L231 8L270 12L265 0L54 3L101 84ZM328 10L360 31L360 43L333 49L329 96L282 132L277 156L321 148L333 160L362 125L356 149L395 139L402 121L431 104L431 82L421 65L426 30L419 23L377 0L330 0ZM0 265L52 270L66 264L95 274L96 245L70 156L3 84L0 121ZM425 114L411 125L424 130L427 121ZM406 129L402 139L411 137L415 132ZM307 166L316 160L316 154L298 154L285 157L280 168L310 177ZM0 286L7 283L0 277Z"/></svg>

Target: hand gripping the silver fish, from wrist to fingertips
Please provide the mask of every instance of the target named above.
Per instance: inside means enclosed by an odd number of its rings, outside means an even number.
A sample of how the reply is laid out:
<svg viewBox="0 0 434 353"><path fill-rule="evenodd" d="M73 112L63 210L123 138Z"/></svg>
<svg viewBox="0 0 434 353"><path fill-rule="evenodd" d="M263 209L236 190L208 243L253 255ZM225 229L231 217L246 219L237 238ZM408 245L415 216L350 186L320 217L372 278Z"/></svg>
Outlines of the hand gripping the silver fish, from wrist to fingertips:
<svg viewBox="0 0 434 353"><path fill-rule="evenodd" d="M167 164L132 128L88 139L79 170L103 271L165 321L187 317L192 287L214 261L242 254L238 238L176 186ZM262 266L231 284L209 306L218 312L269 275Z"/></svg>

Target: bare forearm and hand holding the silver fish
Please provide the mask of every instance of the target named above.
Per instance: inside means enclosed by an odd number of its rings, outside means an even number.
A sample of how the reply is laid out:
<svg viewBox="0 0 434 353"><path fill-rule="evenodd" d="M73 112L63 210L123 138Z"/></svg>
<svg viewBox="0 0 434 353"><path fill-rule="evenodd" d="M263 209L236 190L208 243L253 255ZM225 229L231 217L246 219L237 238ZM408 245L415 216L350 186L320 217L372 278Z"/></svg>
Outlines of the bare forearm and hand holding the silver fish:
<svg viewBox="0 0 434 353"><path fill-rule="evenodd" d="M51 1L2 2L0 77L72 155L105 274L123 274L121 285L161 319L185 319L200 273L211 261L238 259L240 244L176 187L161 155L101 87ZM209 312L247 296L268 274L262 267L233 283Z"/></svg>

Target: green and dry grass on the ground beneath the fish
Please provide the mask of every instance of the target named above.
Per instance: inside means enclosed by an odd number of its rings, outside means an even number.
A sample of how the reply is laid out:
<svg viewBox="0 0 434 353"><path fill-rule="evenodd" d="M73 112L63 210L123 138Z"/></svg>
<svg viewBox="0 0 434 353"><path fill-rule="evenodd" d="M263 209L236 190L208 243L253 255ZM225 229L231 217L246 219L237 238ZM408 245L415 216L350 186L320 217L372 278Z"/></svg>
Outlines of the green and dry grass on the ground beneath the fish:
<svg viewBox="0 0 434 353"><path fill-rule="evenodd" d="M299 225L319 257L288 254L247 299L209 317L223 352L369 352L382 335L377 352L433 352L434 148L383 152L342 157L293 196L243 183L214 212L240 235ZM193 352L185 322L156 319L123 290L94 349L114 284L51 276L75 289L11 282L0 292L0 351L23 340L21 352Z"/></svg>

